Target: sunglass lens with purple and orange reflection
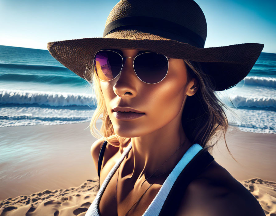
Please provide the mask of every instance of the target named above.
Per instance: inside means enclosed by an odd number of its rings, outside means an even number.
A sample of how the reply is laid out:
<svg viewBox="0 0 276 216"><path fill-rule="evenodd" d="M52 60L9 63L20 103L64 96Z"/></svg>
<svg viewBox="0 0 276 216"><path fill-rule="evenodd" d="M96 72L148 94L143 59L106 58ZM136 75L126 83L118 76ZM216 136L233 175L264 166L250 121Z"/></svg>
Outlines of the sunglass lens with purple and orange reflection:
<svg viewBox="0 0 276 216"><path fill-rule="evenodd" d="M99 79L109 81L119 75L123 66L122 57L110 50L101 50L94 57L94 68Z"/></svg>

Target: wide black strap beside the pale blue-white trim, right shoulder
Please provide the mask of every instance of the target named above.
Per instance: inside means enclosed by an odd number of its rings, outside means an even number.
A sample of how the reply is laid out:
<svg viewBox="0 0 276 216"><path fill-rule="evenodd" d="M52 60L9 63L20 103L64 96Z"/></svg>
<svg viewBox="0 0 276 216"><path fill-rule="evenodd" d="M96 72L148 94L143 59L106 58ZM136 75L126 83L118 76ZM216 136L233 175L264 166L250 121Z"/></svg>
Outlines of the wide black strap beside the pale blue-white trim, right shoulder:
<svg viewBox="0 0 276 216"><path fill-rule="evenodd" d="M193 157L177 177L161 208L159 216L176 215L189 183L208 167L213 160L213 156L205 149L200 150Z"/></svg>

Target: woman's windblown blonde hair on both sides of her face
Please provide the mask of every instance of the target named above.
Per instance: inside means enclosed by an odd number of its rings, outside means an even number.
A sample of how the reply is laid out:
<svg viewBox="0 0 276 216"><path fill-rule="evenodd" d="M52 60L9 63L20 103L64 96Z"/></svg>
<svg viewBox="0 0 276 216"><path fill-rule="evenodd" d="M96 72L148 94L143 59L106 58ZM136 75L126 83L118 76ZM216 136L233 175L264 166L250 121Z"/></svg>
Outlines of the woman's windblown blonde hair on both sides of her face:
<svg viewBox="0 0 276 216"><path fill-rule="evenodd" d="M198 80L198 90L193 96L187 97L182 113L181 122L186 137L191 143L198 143L203 149L212 153L213 146L221 137L217 135L219 133L221 135L223 134L226 148L233 157L225 139L225 133L228 129L228 119L223 107L226 109L228 109L228 107L215 95L211 77L204 73L201 64L191 60L184 60L184 62L186 67L188 66L188 82L186 86L192 78ZM119 147L121 143L130 138L120 137L114 132L112 122L110 121L106 109L104 95L100 87L100 80L92 70L89 70L89 72L92 77L92 86L94 86L92 88L94 89L94 94L98 102L89 125L91 134L95 138L103 138L105 141L108 141L109 144ZM232 112L231 110L229 111ZM235 115L235 113L233 114ZM103 122L100 131L96 127L96 122L99 119ZM212 143L215 137L216 141ZM234 157L233 159L236 160Z"/></svg>

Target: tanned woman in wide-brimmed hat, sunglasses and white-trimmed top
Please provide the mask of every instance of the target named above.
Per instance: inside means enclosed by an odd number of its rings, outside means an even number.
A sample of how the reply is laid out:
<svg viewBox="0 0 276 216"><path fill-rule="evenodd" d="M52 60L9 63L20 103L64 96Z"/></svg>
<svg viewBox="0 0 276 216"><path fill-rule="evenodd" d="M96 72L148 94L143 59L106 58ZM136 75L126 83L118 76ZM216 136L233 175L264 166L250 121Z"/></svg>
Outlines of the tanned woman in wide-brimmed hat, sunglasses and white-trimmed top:
<svg viewBox="0 0 276 216"><path fill-rule="evenodd" d="M99 139L91 155L100 189L87 216L265 215L208 152L228 127L214 92L239 83L264 44L204 48L206 36L194 1L121 0L103 38L48 43L52 56L94 84L90 129Z"/></svg>

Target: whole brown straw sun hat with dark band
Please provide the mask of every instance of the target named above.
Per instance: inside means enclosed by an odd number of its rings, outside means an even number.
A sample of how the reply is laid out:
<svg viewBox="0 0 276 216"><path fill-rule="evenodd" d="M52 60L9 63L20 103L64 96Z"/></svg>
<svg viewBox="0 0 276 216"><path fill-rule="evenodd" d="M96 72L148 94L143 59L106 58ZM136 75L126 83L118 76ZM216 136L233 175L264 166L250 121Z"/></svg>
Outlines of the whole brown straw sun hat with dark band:
<svg viewBox="0 0 276 216"><path fill-rule="evenodd" d="M103 37L49 42L47 48L89 82L93 80L87 69L93 71L93 58L100 49L144 49L200 62L212 78L214 91L222 91L246 77L264 47L245 43L204 48L206 37L204 13L193 0L121 0L107 18Z"/></svg>

